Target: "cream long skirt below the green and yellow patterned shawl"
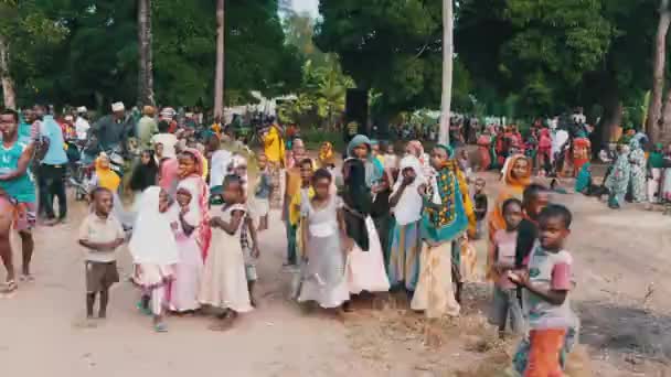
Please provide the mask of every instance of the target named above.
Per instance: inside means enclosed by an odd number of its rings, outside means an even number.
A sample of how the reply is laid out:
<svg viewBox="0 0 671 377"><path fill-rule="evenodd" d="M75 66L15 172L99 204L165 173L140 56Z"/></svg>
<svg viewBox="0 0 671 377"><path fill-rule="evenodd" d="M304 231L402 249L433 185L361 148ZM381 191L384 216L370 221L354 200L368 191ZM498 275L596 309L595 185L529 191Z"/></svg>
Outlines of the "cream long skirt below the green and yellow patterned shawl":
<svg viewBox="0 0 671 377"><path fill-rule="evenodd" d="M411 308L424 311L427 317L438 319L443 315L459 315L459 303L455 299L452 284L452 243L422 248L422 271Z"/></svg>

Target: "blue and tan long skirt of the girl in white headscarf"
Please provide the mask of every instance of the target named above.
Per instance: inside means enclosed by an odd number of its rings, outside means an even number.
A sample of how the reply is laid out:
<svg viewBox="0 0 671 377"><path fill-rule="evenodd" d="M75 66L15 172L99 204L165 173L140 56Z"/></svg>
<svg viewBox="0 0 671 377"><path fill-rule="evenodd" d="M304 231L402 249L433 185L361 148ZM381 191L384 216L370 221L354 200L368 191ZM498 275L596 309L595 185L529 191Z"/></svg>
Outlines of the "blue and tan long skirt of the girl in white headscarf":
<svg viewBox="0 0 671 377"><path fill-rule="evenodd" d="M419 222L398 225L392 219L391 246L388 250L387 273L393 288L405 286L414 291L419 279Z"/></svg>

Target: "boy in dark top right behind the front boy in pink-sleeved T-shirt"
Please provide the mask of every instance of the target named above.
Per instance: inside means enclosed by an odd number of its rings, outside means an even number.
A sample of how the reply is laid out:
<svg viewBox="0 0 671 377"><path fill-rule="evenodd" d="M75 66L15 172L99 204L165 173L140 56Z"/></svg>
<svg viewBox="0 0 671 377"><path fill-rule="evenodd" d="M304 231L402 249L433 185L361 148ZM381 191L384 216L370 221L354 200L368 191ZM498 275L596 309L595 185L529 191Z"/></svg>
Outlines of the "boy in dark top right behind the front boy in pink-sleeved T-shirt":
<svg viewBox="0 0 671 377"><path fill-rule="evenodd" d="M524 188L522 205L524 218L518 229L518 245L515 247L515 267L524 268L526 259L539 238L537 220L541 211L547 206L550 194L547 188L540 184L531 184Z"/></svg>

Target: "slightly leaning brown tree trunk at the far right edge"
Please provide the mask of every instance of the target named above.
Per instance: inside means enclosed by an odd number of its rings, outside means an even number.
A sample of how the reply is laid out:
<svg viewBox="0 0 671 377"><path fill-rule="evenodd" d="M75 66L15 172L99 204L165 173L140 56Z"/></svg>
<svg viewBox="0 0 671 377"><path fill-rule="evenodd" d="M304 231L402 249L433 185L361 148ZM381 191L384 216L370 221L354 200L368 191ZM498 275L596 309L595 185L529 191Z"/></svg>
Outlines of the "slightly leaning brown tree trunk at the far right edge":
<svg viewBox="0 0 671 377"><path fill-rule="evenodd" d="M664 90L667 34L669 32L669 24L671 24L669 0L661 0L652 65L652 95L650 97L648 119L646 121L646 130L653 141L659 138L660 118L662 116L662 93Z"/></svg>

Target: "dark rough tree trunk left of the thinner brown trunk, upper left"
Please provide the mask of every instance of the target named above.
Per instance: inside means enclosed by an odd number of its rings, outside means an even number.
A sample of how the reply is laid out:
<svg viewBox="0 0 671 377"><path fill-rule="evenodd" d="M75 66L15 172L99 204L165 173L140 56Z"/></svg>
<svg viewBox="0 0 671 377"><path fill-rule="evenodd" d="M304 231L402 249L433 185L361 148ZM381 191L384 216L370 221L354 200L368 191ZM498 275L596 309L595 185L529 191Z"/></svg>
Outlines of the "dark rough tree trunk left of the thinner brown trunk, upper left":
<svg viewBox="0 0 671 377"><path fill-rule="evenodd" d="M151 0L138 0L138 106L156 105L153 97L153 57L151 52Z"/></svg>

